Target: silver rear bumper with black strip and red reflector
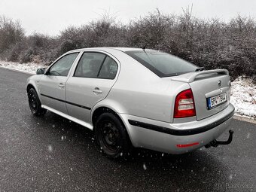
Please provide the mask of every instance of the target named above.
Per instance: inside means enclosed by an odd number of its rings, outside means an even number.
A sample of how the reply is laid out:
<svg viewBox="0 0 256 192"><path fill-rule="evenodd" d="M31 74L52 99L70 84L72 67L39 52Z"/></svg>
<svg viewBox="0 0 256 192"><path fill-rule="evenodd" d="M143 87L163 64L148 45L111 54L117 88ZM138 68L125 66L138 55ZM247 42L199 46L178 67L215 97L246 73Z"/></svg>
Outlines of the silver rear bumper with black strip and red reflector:
<svg viewBox="0 0 256 192"><path fill-rule="evenodd" d="M183 154L203 147L224 133L234 109L230 104L218 114L187 123L166 123L129 114L120 114L120 117L134 147Z"/></svg>

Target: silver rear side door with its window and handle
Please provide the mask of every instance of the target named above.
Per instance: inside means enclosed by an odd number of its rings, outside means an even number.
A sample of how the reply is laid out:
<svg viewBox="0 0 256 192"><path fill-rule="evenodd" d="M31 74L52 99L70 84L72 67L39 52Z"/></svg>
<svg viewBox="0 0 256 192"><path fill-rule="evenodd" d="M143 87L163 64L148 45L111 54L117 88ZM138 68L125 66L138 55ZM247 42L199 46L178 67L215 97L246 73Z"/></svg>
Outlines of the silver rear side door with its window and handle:
<svg viewBox="0 0 256 192"><path fill-rule="evenodd" d="M117 60L106 53L84 52L66 83L69 114L90 123L90 110L105 99L117 79Z"/></svg>

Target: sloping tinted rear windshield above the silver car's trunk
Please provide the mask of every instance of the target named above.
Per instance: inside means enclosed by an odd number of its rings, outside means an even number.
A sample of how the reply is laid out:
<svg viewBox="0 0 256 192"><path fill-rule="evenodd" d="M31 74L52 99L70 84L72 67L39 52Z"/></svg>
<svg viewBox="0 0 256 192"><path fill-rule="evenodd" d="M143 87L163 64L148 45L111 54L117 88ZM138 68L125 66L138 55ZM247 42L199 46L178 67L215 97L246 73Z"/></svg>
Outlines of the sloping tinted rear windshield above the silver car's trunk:
<svg viewBox="0 0 256 192"><path fill-rule="evenodd" d="M177 56L157 50L130 50L125 53L142 63L143 66L150 69L160 78L194 72L198 68L198 66Z"/></svg>

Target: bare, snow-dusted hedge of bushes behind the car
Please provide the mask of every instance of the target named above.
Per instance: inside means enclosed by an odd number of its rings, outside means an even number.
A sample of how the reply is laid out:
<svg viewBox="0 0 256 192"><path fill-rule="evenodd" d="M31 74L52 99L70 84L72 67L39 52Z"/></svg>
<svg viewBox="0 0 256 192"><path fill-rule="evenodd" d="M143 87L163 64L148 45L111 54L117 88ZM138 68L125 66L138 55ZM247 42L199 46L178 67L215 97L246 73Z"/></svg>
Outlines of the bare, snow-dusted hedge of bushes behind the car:
<svg viewBox="0 0 256 192"><path fill-rule="evenodd" d="M186 10L160 11L123 25L108 14L86 25L70 26L56 37L26 36L19 22L0 17L0 59L50 63L83 47L143 47L163 50L206 69L228 69L232 78L256 76L256 20L238 15L229 22L203 20Z"/></svg>

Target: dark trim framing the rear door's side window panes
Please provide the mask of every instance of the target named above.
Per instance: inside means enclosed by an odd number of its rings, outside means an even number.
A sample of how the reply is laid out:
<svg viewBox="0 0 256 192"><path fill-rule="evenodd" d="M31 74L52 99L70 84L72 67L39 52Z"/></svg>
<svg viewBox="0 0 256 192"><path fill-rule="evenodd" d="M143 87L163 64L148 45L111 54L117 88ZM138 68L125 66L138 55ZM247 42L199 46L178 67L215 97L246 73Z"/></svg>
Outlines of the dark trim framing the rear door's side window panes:
<svg viewBox="0 0 256 192"><path fill-rule="evenodd" d="M117 73L118 73L118 70L120 69L120 66L118 65L117 61L116 61L112 56L109 56L109 55L106 54L106 53L103 53L103 52L100 52L100 51L95 51L95 50L92 50L92 51L84 51L84 52L81 54L80 58L78 59L77 65L75 66L75 70L74 70L74 72L73 72L72 78L93 78L93 77L80 77L80 76L75 76L75 72L76 72L76 70L77 70L77 68L78 68L78 64L79 64L80 60L82 59L84 53L101 53L101 54L105 55L104 59L102 60L102 64L101 64L101 66L99 67L99 72L98 72L98 74L97 74L97 77L95 77L95 79L114 80L115 78L117 78ZM107 58L107 56L110 57L111 59L113 59L114 62L117 64L117 72L116 72L114 78L99 78L99 73L100 73L100 71L101 71L101 69L102 69L102 66L103 66L103 64L104 64L105 59Z"/></svg>

